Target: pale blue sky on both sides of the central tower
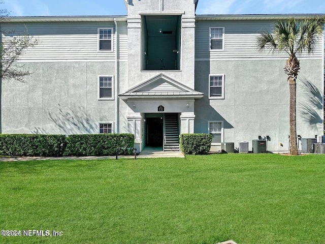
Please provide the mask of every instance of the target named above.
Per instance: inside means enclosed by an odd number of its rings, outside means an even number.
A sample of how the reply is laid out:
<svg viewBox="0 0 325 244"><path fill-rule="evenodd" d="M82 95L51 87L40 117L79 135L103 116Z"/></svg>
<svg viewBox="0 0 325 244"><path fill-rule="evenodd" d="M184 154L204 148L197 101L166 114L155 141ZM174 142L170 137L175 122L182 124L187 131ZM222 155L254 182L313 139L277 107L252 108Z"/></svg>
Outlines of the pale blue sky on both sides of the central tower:
<svg viewBox="0 0 325 244"><path fill-rule="evenodd" d="M158 1L158 0L151 0ZM126 15L124 0L4 0L11 16ZM197 14L324 14L324 0L199 0Z"/></svg>

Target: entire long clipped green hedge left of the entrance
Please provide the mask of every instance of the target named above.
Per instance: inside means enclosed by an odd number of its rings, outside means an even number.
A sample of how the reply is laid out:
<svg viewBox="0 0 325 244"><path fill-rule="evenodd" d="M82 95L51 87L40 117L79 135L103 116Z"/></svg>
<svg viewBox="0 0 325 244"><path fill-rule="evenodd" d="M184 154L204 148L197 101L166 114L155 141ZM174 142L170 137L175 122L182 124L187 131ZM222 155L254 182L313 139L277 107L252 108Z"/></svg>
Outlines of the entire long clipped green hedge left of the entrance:
<svg viewBox="0 0 325 244"><path fill-rule="evenodd" d="M108 156L117 147L133 147L133 134L0 134L2 156ZM119 151L127 154L128 151Z"/></svg>

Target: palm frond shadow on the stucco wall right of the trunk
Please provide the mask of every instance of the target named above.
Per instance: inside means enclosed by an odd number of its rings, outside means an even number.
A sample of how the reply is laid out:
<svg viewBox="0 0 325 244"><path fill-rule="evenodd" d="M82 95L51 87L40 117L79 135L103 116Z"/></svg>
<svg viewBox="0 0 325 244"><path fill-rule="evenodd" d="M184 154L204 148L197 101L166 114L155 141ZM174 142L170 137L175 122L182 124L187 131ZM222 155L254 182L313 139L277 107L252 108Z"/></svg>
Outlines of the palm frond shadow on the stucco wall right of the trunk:
<svg viewBox="0 0 325 244"><path fill-rule="evenodd" d="M302 77L299 80L301 81L300 86L305 95L301 99L302 102L299 103L299 107L301 108L299 114L304 121L309 123L313 129L317 130L317 127L322 123L322 118L319 116L318 111L322 110L323 95L307 78Z"/></svg>

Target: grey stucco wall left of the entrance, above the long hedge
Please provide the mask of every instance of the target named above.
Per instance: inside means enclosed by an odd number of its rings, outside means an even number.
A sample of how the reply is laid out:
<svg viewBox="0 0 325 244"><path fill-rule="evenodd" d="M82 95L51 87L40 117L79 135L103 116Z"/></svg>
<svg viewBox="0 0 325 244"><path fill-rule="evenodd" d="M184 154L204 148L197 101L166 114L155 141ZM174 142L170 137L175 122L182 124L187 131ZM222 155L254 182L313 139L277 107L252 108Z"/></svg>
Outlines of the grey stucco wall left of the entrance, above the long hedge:
<svg viewBox="0 0 325 244"><path fill-rule="evenodd" d="M99 133L115 121L115 101L98 100L98 75L113 62L27 63L24 83L2 82L2 133Z"/></svg>

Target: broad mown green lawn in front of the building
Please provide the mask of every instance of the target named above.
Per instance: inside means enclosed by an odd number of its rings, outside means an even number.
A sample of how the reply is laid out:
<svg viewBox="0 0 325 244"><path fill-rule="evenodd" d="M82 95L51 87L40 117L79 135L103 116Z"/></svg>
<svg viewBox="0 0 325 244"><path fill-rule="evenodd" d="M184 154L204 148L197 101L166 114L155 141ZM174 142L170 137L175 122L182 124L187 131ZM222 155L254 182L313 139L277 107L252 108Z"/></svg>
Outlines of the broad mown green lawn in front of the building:
<svg viewBox="0 0 325 244"><path fill-rule="evenodd" d="M325 243L325 156L0 163L0 243Z"/></svg>

